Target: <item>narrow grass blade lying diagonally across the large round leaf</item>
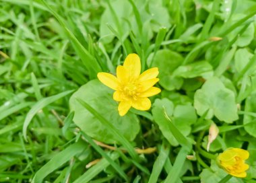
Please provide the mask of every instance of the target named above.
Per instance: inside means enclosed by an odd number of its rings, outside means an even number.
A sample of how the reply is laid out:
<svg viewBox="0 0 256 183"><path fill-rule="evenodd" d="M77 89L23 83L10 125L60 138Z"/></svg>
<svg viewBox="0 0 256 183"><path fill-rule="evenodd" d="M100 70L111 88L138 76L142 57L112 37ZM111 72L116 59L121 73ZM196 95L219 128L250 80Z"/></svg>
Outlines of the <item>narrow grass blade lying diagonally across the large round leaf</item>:
<svg viewBox="0 0 256 183"><path fill-rule="evenodd" d="M121 133L119 133L119 131L117 131L117 129L115 128L115 126L113 126L112 123L108 122L108 120L106 120L103 116L101 116L96 110L94 110L94 108L92 108L86 102L82 101L79 98L77 98L77 101L80 104L82 104L82 106L84 106L84 108L86 108L92 115L94 115L96 118L98 118L98 120L100 120L100 122L102 122L102 124L104 124L106 126L108 131L113 133L113 136L116 137L115 139L119 140L119 142L127 149L129 155L131 155L131 157L133 159L135 159L136 161L139 161L139 156L133 149L133 146L131 145L131 143L129 143L129 141L127 141L127 139L125 139L125 137L123 137L123 135L121 135Z"/></svg>

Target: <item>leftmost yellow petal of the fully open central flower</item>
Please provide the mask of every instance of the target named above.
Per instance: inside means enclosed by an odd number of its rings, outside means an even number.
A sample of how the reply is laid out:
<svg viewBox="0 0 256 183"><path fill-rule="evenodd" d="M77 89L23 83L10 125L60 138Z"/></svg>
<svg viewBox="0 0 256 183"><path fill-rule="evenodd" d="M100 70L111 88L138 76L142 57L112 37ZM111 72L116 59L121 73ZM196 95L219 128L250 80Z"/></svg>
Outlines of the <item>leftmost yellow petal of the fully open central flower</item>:
<svg viewBox="0 0 256 183"><path fill-rule="evenodd" d="M98 73L97 77L100 82L102 82L107 87L117 90L119 82L117 81L117 77L114 75L111 75L110 73Z"/></svg>

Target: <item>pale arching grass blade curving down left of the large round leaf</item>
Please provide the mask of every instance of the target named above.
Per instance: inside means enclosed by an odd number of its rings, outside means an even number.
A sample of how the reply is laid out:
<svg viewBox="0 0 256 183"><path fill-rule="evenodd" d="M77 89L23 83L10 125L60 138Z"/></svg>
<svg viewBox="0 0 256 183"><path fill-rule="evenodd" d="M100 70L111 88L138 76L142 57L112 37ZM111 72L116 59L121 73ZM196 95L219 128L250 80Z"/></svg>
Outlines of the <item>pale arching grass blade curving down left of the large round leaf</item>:
<svg viewBox="0 0 256 183"><path fill-rule="evenodd" d="M68 94L71 94L74 90L69 90L69 91L64 91L61 94L57 94L55 96L51 96L49 98L42 98L41 100L39 100L28 112L26 119L24 121L24 125L23 125L23 136L25 141L27 141L27 128L28 128L28 124L30 124L32 118L36 115L36 113L38 112L38 110L44 108L45 106L48 106L49 104L55 102L56 100L59 100L60 98L63 98L65 96L67 96Z"/></svg>

